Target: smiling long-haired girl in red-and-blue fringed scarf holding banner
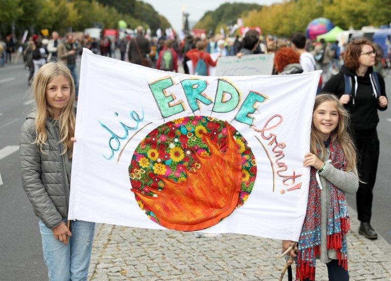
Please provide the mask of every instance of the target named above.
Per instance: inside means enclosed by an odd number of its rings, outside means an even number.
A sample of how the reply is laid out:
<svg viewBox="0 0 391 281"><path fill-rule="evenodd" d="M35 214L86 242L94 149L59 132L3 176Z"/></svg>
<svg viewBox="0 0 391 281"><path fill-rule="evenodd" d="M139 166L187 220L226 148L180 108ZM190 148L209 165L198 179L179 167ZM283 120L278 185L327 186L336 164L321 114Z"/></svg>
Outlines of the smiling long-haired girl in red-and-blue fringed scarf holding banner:
<svg viewBox="0 0 391 281"><path fill-rule="evenodd" d="M316 259L326 263L329 280L349 280L346 235L349 215L345 193L358 188L356 152L347 132L349 114L333 94L316 96L311 152L304 166L311 167L310 190L297 255L296 276L315 280ZM284 251L292 241L283 240Z"/></svg>

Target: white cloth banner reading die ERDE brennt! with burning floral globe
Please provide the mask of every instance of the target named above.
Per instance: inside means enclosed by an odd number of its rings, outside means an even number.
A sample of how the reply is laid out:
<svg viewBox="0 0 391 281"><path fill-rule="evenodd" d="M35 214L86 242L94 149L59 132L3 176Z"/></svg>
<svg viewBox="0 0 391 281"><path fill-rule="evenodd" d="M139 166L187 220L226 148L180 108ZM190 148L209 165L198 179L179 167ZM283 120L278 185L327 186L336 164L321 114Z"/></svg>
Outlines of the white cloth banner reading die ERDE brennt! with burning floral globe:
<svg viewBox="0 0 391 281"><path fill-rule="evenodd" d="M68 219L297 241L319 76L191 76L84 49Z"/></svg>

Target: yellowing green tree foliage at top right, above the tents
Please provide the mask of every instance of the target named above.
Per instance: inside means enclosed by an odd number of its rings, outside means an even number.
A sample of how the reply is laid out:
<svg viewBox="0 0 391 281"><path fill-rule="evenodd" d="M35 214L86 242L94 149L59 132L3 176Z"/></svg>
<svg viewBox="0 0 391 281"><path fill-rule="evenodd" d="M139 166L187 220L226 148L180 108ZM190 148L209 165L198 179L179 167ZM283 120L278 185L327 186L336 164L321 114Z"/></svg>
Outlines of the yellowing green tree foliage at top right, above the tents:
<svg viewBox="0 0 391 281"><path fill-rule="evenodd" d="M342 29L389 24L391 0L292 0L264 6L243 18L248 26L259 26L264 34L290 36L305 31L317 17L330 19Z"/></svg>

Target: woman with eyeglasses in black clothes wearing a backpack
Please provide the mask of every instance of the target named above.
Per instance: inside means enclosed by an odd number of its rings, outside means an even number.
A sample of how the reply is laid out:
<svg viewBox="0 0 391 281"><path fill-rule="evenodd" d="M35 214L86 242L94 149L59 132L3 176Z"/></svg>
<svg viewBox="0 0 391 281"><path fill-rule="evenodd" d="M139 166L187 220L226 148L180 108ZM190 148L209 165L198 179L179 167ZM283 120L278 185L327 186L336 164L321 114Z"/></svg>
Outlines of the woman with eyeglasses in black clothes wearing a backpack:
<svg viewBox="0 0 391 281"><path fill-rule="evenodd" d="M360 177L356 193L358 220L361 222L358 233L372 240L377 239L377 233L370 224L372 189L379 160L377 111L386 110L388 105L384 79L373 71L375 63L374 44L367 39L354 40L346 48L340 72L332 76L321 90L337 95L351 115L349 130L357 147Z"/></svg>

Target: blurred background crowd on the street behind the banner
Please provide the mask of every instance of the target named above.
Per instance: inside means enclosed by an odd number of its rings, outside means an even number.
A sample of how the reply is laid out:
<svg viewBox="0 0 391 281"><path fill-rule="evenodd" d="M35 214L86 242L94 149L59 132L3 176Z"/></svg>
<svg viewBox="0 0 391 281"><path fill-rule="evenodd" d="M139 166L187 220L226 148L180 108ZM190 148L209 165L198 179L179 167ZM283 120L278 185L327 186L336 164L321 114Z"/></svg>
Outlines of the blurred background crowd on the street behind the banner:
<svg viewBox="0 0 391 281"><path fill-rule="evenodd" d="M16 51L16 45L17 42L11 35L8 35L5 41L0 40L0 66L11 63L11 54ZM199 75L208 75L208 67L215 66L218 57L240 58L245 55L274 53L273 74L294 74L322 69L318 92L331 75L339 72L347 47L346 44L341 47L338 41L330 43L324 39L319 42L308 40L302 33L294 33L290 38L276 38L262 36L256 30L248 30L242 36L227 38L220 34L209 38L205 34L188 34L182 40L176 35L149 38L142 27L137 27L133 36L125 34L121 38L103 36L99 39L89 34L76 38L72 33L60 38L59 34L53 31L50 38L33 35L22 46L24 62L30 69L29 84L34 73L43 64L62 59L69 66L75 80L76 97L78 82L75 59L81 55L83 47L92 50L94 54L161 70L177 72L182 66L184 73L195 74L197 68L196 73ZM380 62L381 49L377 45L374 47L376 61ZM161 52L163 50L164 52ZM189 72L187 64L189 60L192 61L192 73ZM382 73L382 63L377 63L374 68Z"/></svg>

